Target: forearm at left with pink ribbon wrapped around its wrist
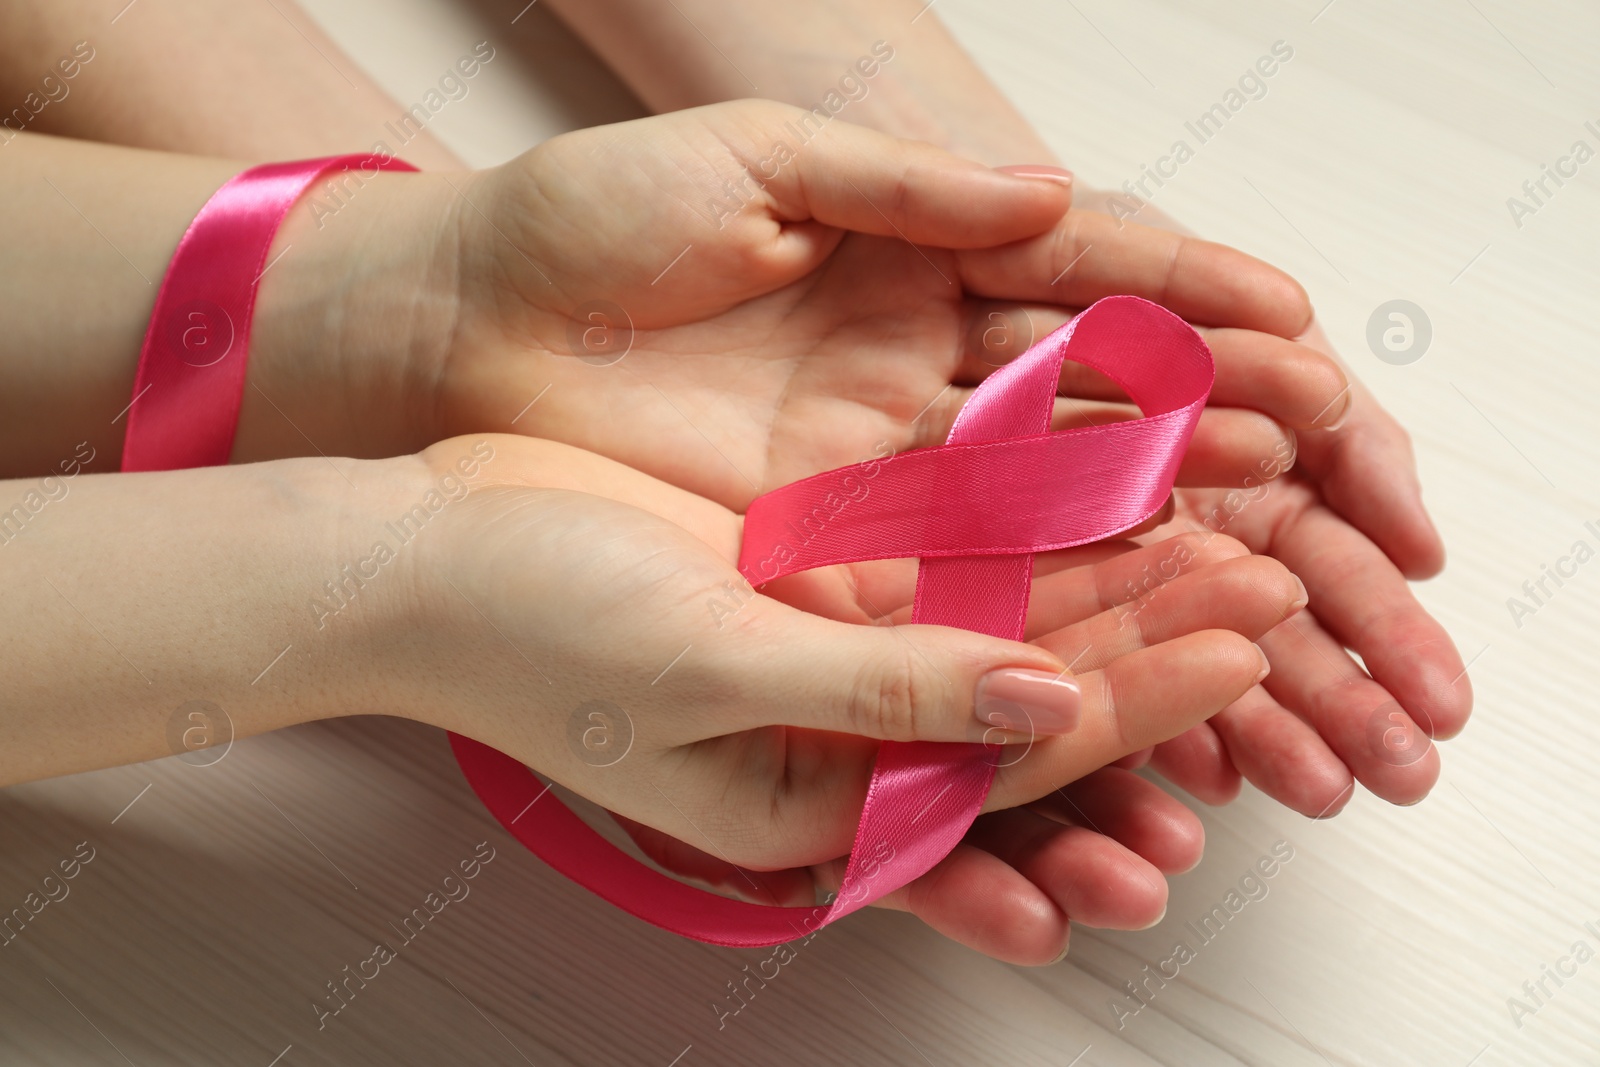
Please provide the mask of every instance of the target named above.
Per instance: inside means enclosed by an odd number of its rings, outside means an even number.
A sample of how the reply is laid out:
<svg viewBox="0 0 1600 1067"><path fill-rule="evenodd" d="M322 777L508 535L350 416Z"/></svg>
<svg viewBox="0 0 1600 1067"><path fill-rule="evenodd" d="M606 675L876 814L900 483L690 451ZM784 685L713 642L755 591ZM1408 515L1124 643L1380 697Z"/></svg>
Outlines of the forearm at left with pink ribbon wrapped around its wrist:
<svg viewBox="0 0 1600 1067"><path fill-rule="evenodd" d="M0 288L0 477L50 474L78 442L94 450L94 470L115 470L166 264L243 165L38 134L0 150L0 270L10 278ZM435 275L450 272L448 240L437 242L456 194L438 178L357 178L296 203L269 253L238 461L427 443L382 427L413 414L406 346L438 338L451 315L450 278ZM354 400L394 419L360 419Z"/></svg>

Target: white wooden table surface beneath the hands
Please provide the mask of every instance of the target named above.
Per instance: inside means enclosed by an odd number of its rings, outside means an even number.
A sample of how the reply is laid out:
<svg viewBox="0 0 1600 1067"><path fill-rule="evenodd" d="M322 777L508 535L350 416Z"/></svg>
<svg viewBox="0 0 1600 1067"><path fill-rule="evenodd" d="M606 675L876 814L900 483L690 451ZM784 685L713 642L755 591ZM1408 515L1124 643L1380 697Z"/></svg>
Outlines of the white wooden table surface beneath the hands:
<svg viewBox="0 0 1600 1067"><path fill-rule="evenodd" d="M1421 589L1477 713L1416 808L1310 822L1253 793L1205 811L1168 918L1078 929L1019 969L867 913L718 1029L760 958L626 920L494 829L442 734L349 720L0 793L0 909L77 877L0 949L5 1064L1507 1064L1600 1062L1600 561L1518 627L1507 598L1600 525L1600 162L1518 227L1507 197L1600 120L1579 0L944 0L939 14L1088 182L1138 178L1274 42L1294 50L1157 203L1283 264L1411 429L1451 566ZM541 8L309 5L398 99L490 38L435 128L474 163L637 104ZM502 10L504 8L504 10ZM899 46L915 46L907 35ZM1600 128L1600 122L1597 122ZM1432 346L1379 362L1408 299ZM1379 477L1382 472L1376 472ZM314 1003L490 840L498 854L318 1029ZM85 848L78 843L88 841ZM1149 1006L1171 955L1275 843L1293 859ZM38 897L35 897L38 899ZM1584 923L1594 923L1586 928ZM1563 961L1566 960L1566 961ZM1515 1021L1544 968L1574 974ZM371 969L368 969L371 973ZM848 981L846 981L848 979ZM323 1000L323 1003L333 1003ZM1528 1001L1531 1003L1531 1001ZM277 1061L274 1057L278 1057Z"/></svg>

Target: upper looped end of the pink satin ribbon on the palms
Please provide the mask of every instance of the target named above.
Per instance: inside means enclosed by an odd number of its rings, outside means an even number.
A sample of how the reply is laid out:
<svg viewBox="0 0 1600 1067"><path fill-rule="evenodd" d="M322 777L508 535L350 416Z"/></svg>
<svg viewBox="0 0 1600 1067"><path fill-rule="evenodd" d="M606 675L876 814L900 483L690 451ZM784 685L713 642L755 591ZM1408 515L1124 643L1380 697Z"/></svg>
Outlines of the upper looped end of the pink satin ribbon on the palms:
<svg viewBox="0 0 1600 1067"><path fill-rule="evenodd" d="M1064 360L1118 381L1146 418L1050 434ZM1030 553L1112 536L1166 501L1210 387L1210 354L1187 323L1138 298L1107 298L990 376L946 446L757 498L739 569L760 584L834 563Z"/></svg>

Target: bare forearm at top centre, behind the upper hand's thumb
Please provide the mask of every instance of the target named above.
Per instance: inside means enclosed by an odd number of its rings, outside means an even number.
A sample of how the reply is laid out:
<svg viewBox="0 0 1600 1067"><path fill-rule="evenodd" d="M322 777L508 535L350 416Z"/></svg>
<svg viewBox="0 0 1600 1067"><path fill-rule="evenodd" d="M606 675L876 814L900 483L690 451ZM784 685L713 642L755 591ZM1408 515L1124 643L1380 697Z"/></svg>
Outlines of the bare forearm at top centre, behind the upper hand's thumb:
<svg viewBox="0 0 1600 1067"><path fill-rule="evenodd" d="M803 18L779 0L549 3L658 112L742 96L813 107L835 91L856 125L994 166L1053 160L923 0L814 0ZM893 58L862 77L877 42ZM851 75L864 94L842 90Z"/></svg>

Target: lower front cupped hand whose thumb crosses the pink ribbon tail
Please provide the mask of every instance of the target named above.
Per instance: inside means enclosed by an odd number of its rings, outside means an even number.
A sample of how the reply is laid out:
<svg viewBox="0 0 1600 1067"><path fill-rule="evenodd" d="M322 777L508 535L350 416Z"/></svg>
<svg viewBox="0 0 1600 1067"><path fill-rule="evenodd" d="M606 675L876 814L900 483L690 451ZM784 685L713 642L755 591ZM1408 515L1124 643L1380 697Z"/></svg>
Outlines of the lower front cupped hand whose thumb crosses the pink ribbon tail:
<svg viewBox="0 0 1600 1067"><path fill-rule="evenodd" d="M437 445L424 462L448 470L478 440ZM734 512L570 446L486 440L494 459L474 491L438 537L418 541L398 710L506 750L730 870L816 867L824 886L850 849L878 741L1006 742L986 805L995 814L890 902L1014 961L1058 957L1067 915L1104 907L1080 883L1094 864L1147 862L1114 841L1083 857L1074 824L1085 819L1131 838L1160 830L1118 814L1142 793L1099 768L1254 685L1264 661L1251 638L1302 601L1277 563L1186 536L1042 555L1027 645L872 625L867 595L896 619L909 611L912 561L786 579L803 584L795 598L843 617L829 619L744 585ZM1168 598L1128 600L1146 566L1178 574ZM978 699L997 669L1075 680L1077 713L1051 733L997 728ZM627 755L608 766L570 737L594 701L630 723ZM1018 726L1014 713L1005 723ZM1085 776L1091 797L1061 789ZM795 889L792 875L746 885L781 899Z"/></svg>

